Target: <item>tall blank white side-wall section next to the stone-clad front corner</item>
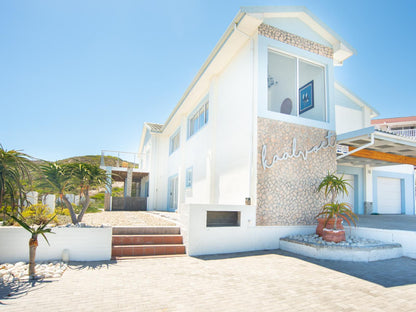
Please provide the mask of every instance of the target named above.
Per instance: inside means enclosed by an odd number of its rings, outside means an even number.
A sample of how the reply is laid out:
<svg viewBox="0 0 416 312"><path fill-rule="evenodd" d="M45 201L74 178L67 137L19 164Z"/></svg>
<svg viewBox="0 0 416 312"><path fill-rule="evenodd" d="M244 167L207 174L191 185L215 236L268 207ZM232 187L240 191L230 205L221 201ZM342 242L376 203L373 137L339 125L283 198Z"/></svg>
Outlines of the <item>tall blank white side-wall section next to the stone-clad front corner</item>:
<svg viewBox="0 0 416 312"><path fill-rule="evenodd" d="M213 203L244 204L250 197L250 153L253 148L253 52L247 43L218 75ZM254 157L257 157L255 154Z"/></svg>

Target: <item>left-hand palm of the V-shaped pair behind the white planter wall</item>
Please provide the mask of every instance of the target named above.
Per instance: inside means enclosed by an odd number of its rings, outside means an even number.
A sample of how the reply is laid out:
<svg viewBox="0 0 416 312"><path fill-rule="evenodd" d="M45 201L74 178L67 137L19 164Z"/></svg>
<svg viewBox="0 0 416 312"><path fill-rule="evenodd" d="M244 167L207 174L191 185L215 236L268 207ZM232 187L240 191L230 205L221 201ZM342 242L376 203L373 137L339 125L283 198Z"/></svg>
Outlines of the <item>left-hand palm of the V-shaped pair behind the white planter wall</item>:
<svg viewBox="0 0 416 312"><path fill-rule="evenodd" d="M68 208L72 223L77 224L78 221L74 208L65 195L68 188L71 187L72 182L72 172L69 165L46 162L40 166L40 172L42 177L38 186L51 193L57 193L60 200L65 204L66 208Z"/></svg>

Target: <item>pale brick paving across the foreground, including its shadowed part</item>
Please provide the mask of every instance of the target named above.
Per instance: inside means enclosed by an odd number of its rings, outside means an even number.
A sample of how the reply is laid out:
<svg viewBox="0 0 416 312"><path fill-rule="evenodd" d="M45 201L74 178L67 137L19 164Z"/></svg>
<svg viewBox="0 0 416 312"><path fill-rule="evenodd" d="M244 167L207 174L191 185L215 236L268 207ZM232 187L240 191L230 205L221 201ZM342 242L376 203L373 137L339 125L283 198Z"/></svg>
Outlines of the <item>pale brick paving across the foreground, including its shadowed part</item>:
<svg viewBox="0 0 416 312"><path fill-rule="evenodd" d="M0 284L0 302L1 311L414 311L416 260L352 263L274 250L84 262L60 280Z"/></svg>

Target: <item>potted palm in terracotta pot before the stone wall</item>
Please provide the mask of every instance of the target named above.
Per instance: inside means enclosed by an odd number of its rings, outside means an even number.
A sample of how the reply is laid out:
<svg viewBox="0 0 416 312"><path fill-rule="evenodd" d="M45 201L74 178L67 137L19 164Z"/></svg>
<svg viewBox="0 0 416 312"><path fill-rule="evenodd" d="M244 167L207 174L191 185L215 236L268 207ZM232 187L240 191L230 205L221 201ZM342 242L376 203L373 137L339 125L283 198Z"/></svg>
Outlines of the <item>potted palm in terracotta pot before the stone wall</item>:
<svg viewBox="0 0 416 312"><path fill-rule="evenodd" d="M325 204L316 216L318 219L316 233L322 236L324 240L334 242L344 241L345 231L342 226L342 221L345 220L351 225L351 220L355 225L355 219L358 220L350 204L336 201L338 195L348 195L348 187L352 186L344 179L344 175L337 176L329 172L318 186L318 192L324 190L326 197L331 195L330 202Z"/></svg>

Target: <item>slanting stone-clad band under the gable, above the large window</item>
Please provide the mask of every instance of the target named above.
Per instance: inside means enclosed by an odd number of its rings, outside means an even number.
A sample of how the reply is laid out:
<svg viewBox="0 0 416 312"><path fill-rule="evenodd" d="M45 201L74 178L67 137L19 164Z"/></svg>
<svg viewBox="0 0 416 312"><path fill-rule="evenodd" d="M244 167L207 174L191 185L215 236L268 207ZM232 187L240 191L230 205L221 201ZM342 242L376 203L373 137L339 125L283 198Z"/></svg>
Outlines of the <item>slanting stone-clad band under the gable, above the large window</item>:
<svg viewBox="0 0 416 312"><path fill-rule="evenodd" d="M309 39L291 34L276 27L261 24L258 28L259 35L271 38L291 46L324 56L332 59L334 57L334 50L323 44L311 41Z"/></svg>

